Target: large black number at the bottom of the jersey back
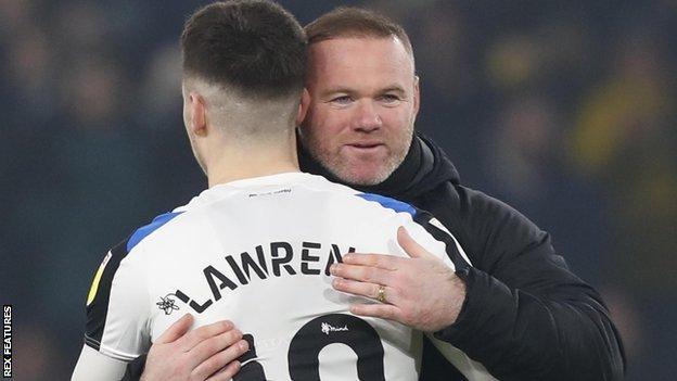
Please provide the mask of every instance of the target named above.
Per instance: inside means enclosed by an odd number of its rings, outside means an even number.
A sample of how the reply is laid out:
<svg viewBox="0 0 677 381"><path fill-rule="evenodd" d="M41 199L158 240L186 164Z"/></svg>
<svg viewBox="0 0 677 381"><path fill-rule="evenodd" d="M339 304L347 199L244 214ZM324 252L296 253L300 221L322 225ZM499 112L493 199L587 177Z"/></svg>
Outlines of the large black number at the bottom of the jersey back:
<svg viewBox="0 0 677 381"><path fill-rule="evenodd" d="M254 338L246 334L250 351L240 361L256 357ZM357 354L357 376L360 380L385 381L383 344L373 327L352 315L330 314L320 316L303 326L290 343L286 354L292 380L320 381L319 355L329 344L341 343ZM233 381L263 381L266 373L260 363L245 364Z"/></svg>

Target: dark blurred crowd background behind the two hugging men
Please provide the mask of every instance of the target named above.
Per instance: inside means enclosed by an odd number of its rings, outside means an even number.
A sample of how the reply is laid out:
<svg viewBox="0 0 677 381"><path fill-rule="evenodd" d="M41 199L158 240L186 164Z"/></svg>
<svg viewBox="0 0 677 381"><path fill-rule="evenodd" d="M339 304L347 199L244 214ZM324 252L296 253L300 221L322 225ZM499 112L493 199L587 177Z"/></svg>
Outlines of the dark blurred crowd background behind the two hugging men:
<svg viewBox="0 0 677 381"><path fill-rule="evenodd" d="M178 51L202 3L0 1L0 301L17 380L69 377L107 247L206 187ZM602 292L627 380L675 379L677 1L281 3L304 25L338 4L400 21L419 130Z"/></svg>

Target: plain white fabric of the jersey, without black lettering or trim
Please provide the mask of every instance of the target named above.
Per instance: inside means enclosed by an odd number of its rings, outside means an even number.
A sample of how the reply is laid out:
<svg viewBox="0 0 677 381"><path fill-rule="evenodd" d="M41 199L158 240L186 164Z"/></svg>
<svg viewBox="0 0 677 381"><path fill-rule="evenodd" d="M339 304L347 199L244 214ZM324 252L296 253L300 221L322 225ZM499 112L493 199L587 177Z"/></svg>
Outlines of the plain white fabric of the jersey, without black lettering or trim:
<svg viewBox="0 0 677 381"><path fill-rule="evenodd" d="M145 237L122 261L113 279L101 353L130 360L146 352L151 341L183 314L191 313L194 327L232 320L253 335L255 360L261 364L266 378L290 379L289 359L301 356L289 353L296 332L328 314L349 316L350 304L365 302L332 289L325 268L335 256L333 245L343 255L355 247L358 253L406 256L396 240L397 228L405 226L417 242L454 267L445 244L409 214L366 201L358 193L301 173L239 180L204 191L177 208L175 212L182 214ZM283 242L277 244L283 246L277 258L271 254L274 242ZM267 275L260 279L252 270L242 284L226 258L230 256L242 269L241 253L248 253L258 263L257 246ZM284 258L289 247L293 252L290 261L276 266L274 261ZM205 276L208 269L227 277L237 288L231 290L221 284L222 279L210 276L219 299ZM317 270L319 275L304 274ZM199 314L177 296L177 290L194 303L212 301L212 305ZM378 332L384 348L385 380L417 380L421 333L383 319L360 319ZM307 340L340 338L356 329L352 323L335 327L322 321L321 329ZM357 355L349 346L331 344L319 358L322 380L356 378Z"/></svg>

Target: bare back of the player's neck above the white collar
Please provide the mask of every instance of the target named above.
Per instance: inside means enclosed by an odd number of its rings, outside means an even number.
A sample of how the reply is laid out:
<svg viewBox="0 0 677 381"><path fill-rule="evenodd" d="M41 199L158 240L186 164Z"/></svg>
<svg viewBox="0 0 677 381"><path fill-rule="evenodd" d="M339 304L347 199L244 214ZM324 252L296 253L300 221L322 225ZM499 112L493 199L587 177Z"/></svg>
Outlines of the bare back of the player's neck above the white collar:
<svg viewBox="0 0 677 381"><path fill-rule="evenodd" d="M207 166L209 188L247 178L299 172L294 145L223 148L221 152Z"/></svg>

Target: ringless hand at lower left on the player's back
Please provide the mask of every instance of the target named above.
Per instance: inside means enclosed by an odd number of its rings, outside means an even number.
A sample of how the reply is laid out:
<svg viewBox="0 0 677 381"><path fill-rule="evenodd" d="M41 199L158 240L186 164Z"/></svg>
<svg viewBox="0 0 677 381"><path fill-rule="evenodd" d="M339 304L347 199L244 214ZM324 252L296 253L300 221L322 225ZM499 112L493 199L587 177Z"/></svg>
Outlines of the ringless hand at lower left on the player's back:
<svg viewBox="0 0 677 381"><path fill-rule="evenodd" d="M232 322L188 332L192 323L193 317L187 314L157 339L148 354L142 381L230 380L240 370L237 358L248 351L248 344Z"/></svg>

